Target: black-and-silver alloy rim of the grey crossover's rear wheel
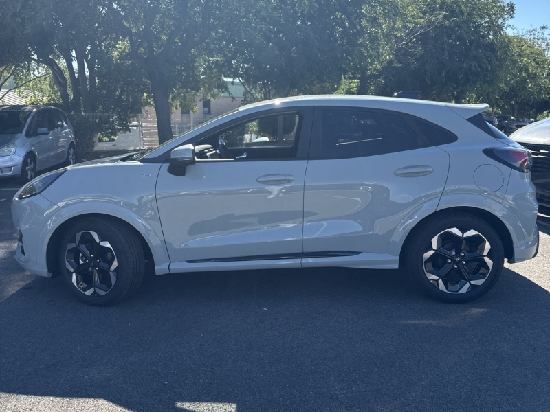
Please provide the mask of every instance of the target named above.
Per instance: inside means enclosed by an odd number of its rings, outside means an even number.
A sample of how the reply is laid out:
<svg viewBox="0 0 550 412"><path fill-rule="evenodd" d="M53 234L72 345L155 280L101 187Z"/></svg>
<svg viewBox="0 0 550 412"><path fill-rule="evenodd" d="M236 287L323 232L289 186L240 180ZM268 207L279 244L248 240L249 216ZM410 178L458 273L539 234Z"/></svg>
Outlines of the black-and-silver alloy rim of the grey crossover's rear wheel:
<svg viewBox="0 0 550 412"><path fill-rule="evenodd" d="M446 293L467 293L489 277L492 248L478 231L453 227L432 238L423 255L424 274Z"/></svg>

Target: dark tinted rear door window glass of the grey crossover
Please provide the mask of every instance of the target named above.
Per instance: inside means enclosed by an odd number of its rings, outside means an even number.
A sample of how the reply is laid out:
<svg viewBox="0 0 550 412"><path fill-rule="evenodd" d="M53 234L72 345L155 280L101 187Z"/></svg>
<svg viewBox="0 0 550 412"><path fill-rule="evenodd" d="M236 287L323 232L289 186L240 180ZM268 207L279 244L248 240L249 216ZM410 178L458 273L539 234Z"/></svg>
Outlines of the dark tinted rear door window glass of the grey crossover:
<svg viewBox="0 0 550 412"><path fill-rule="evenodd" d="M341 159L429 146L403 116L362 110L322 111L320 157Z"/></svg>

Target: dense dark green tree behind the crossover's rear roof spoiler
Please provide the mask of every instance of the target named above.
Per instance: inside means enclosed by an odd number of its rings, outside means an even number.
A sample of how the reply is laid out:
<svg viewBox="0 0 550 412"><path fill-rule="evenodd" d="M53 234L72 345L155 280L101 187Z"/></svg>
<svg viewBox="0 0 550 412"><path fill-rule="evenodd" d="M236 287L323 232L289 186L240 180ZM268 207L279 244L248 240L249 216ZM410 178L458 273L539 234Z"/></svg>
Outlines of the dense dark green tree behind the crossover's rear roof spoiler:
<svg viewBox="0 0 550 412"><path fill-rule="evenodd" d="M419 90L424 98L461 103L467 93L494 84L513 3L502 0L425 0L420 19L442 14L441 24L396 49L384 80L386 93Z"/></svg>

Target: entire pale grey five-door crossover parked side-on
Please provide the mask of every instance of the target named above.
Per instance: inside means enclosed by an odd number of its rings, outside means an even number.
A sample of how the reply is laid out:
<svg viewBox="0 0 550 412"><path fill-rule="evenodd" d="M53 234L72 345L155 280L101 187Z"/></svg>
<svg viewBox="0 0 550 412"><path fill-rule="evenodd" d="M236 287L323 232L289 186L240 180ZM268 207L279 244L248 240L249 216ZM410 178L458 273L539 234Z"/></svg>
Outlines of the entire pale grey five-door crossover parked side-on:
<svg viewBox="0 0 550 412"><path fill-rule="evenodd" d="M345 95L243 106L22 187L16 259L98 306L131 295L146 262L157 275L404 267L431 297L470 301L505 259L538 251L530 152L486 108Z"/></svg>

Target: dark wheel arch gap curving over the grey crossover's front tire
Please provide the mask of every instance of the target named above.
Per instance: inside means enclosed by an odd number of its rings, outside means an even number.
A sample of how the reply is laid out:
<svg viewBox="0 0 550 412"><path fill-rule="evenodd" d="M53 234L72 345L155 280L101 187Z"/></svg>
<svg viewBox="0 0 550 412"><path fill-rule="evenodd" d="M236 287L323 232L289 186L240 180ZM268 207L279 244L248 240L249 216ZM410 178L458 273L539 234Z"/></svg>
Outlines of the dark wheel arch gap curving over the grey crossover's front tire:
<svg viewBox="0 0 550 412"><path fill-rule="evenodd" d="M47 265L47 271L49 273L52 273L52 278L57 277L58 275L61 275L61 273L59 272L58 262L57 262L57 253L58 253L57 247L59 245L59 242L61 242L63 235L65 235L65 232L71 225L74 225L75 222L77 222L78 220L82 220L84 218L107 218L111 221L115 221L120 223L121 225L124 225L124 227L130 229L135 234L135 236L137 236L137 239L140 240L140 243L144 251L144 258L146 260L146 263L151 262L151 264L153 264L153 268L155 268L155 264L160 263L160 262L155 262L155 256L153 255L153 251L151 250L151 245L149 244L149 242L146 240L143 234L130 222L118 216L113 216L110 214L85 213L85 214L79 214L77 216L73 216L71 218L68 218L64 222L62 222L61 225L58 225L58 227L56 227L56 229L52 233L52 236L50 236L50 239L47 241L46 265Z"/></svg>

